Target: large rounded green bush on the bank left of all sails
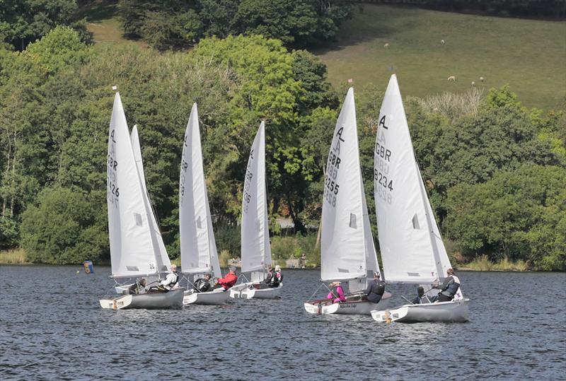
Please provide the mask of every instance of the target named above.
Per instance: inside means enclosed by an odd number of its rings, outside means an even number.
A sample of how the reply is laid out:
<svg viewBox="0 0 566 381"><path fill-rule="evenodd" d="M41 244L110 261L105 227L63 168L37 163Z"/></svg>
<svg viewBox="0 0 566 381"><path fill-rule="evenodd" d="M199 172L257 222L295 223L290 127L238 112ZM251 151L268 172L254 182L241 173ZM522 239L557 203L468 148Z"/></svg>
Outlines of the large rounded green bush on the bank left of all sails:
<svg viewBox="0 0 566 381"><path fill-rule="evenodd" d="M96 231L93 208L76 190L46 188L22 216L22 244L34 263L96 260L108 245Z"/></svg>

